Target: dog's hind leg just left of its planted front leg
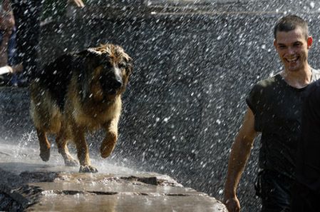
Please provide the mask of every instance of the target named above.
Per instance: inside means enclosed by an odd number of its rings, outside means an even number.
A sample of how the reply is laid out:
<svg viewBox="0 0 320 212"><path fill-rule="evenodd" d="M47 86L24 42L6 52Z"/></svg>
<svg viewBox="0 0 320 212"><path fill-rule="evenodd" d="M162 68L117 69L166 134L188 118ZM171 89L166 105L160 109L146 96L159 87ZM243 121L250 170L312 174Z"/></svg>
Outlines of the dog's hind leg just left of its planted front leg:
<svg viewBox="0 0 320 212"><path fill-rule="evenodd" d="M63 131L62 129L63 128L61 128L61 131L56 136L58 151L59 153L61 153L66 166L78 166L78 161L69 153L67 146L68 137L66 136L65 131Z"/></svg>

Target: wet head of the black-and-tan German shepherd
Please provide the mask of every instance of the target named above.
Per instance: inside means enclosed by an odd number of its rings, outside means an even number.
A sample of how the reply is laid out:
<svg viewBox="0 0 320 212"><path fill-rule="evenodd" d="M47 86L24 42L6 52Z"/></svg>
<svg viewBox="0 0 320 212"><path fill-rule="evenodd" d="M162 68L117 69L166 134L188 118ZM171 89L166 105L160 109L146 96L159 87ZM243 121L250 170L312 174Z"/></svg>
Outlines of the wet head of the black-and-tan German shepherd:
<svg viewBox="0 0 320 212"><path fill-rule="evenodd" d="M78 55L86 66L81 73L83 99L110 100L125 91L133 61L120 46L101 44Z"/></svg>

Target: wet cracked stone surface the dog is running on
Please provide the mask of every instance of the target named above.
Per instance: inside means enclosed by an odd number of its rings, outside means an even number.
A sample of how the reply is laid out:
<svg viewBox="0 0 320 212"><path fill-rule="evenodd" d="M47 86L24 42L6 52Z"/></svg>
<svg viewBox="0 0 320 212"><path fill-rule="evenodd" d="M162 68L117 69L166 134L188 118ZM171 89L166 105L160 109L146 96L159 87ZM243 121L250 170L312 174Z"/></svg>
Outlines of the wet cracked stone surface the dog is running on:
<svg viewBox="0 0 320 212"><path fill-rule="evenodd" d="M17 157L14 148L0 142L0 211L227 211L220 201L170 176L112 164L108 172L78 173L37 161L33 148L19 149L29 156Z"/></svg>

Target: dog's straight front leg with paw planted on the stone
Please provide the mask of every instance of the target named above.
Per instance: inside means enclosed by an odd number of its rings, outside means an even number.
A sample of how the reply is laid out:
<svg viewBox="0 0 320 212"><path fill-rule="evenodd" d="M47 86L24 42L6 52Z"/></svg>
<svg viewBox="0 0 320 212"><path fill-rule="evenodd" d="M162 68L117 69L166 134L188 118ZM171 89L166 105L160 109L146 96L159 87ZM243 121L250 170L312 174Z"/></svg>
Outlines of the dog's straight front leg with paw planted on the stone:
<svg viewBox="0 0 320 212"><path fill-rule="evenodd" d="M76 126L73 123L72 126L73 141L76 143L76 148L78 152L78 159L80 162L79 172L98 172L98 169L91 166L91 161L89 157L89 148L86 143L85 131L83 128Z"/></svg>

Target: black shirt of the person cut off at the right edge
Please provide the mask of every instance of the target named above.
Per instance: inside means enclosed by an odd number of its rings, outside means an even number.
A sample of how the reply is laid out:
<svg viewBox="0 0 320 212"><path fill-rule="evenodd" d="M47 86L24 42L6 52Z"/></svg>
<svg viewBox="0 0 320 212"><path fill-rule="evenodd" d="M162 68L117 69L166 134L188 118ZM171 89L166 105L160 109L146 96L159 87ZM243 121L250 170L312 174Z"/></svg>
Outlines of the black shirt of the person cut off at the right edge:
<svg viewBox="0 0 320 212"><path fill-rule="evenodd" d="M320 80L308 86L302 107L296 178L310 189L320 192Z"/></svg>

